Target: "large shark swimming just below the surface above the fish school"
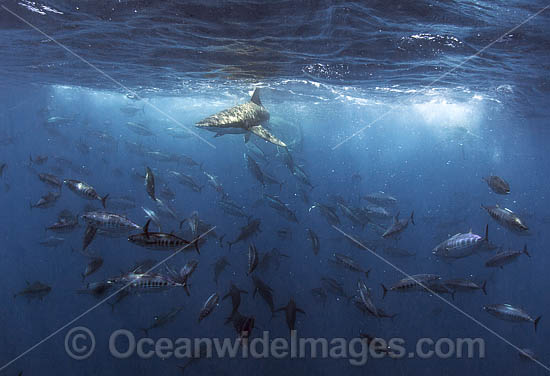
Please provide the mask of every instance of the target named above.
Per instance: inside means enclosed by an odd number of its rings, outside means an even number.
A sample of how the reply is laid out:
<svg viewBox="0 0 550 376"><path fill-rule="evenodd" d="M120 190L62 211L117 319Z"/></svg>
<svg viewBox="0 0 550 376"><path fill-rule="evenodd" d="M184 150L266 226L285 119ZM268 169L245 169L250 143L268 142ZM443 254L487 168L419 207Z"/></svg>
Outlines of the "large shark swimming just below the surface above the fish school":
<svg viewBox="0 0 550 376"><path fill-rule="evenodd" d="M215 137L224 134L244 134L245 142L250 140L250 135L253 133L267 142L286 148L283 141L262 126L268 121L269 112L260 101L260 89L256 88L249 102L211 115L199 121L196 126L215 132Z"/></svg>

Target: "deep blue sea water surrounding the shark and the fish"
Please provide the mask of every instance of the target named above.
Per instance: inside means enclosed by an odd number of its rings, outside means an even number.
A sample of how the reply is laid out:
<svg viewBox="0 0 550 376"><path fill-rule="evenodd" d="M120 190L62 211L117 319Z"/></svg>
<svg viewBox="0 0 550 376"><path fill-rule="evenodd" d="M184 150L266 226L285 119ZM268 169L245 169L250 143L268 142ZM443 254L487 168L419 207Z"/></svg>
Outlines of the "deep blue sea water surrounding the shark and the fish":
<svg viewBox="0 0 550 376"><path fill-rule="evenodd" d="M288 338L284 312L272 318L261 297L252 298L253 283L246 274L252 242L261 255L277 248L289 256L278 269L254 274L273 288L276 308L293 298L306 312L298 313L296 321L300 337L351 340L369 333L403 338L407 352L420 338L481 338L486 356L369 359L363 366L346 359L239 356L201 359L185 374L546 373L550 9L531 16L547 3L21 0L0 5L0 165L6 164L0 177L0 367L9 363L2 374L180 374L176 366L187 359L114 358L111 334L127 329L139 339L144 336L140 328L150 326L156 315L183 306L173 322L151 330L150 336L234 339L233 326L224 325L231 313L227 299L197 323L208 296L225 295L230 282L248 291L239 311L256 319L252 338L263 331L272 339ZM261 88L271 114L270 129L289 144L312 189L290 173L281 148L255 136L249 141L265 153L265 160L254 157L261 169L282 183L281 189L262 187L243 158L249 146L242 135L213 137L194 127L245 103L255 87ZM135 113L127 113L130 107ZM69 120L52 125L52 117ZM128 122L144 124L153 135L132 132ZM174 137L181 129L200 137ZM185 155L202 166L158 161L150 152ZM30 164L29 155L48 160ZM56 191L37 174L85 181L102 196L129 196L134 208L116 209L107 200L106 210L143 225L142 207L158 212L141 177L146 166L155 173L157 193L163 186L175 193L161 197L176 214L161 215L162 230L181 235L179 222L197 211L215 226L218 237L225 234L223 247L209 238L200 255L185 250L168 261L177 270L190 259L199 261L189 297L179 288L132 294L114 310L103 303L73 323L102 301L76 293L87 282L128 272L139 260L161 261L170 252L146 250L125 237L96 236L88 251L101 256L104 265L83 282L88 259L79 252L82 221L67 234L44 228L64 209L79 215L101 205L63 187L53 207L29 210L29 202ZM231 251L227 241L237 237L247 219L220 209L221 195L203 170L218 178L247 215L261 220L261 233ZM190 175L204 187L193 192L170 171ZM482 181L488 175L506 179L511 194L493 193ZM309 203L301 199L301 190ZM335 195L350 207L364 207L368 202L361 197L377 191L397 198L392 214L407 218L414 210L416 225L409 224L397 240L382 240L375 225L354 225L337 209L338 227L392 265L352 246L319 209L311 209L315 202L337 208ZM299 222L279 216L261 201L264 193L288 204ZM502 227L481 204L510 208L527 223L528 234ZM487 223L492 244L503 250L527 244L531 257L491 269L484 263L496 250L450 263L432 254L456 233L472 229L482 235ZM390 224L391 219L380 221L382 227ZM283 228L291 232L286 239L277 233ZM318 255L306 228L320 238ZM39 244L49 236L64 241L52 248ZM416 255L388 256L384 249L391 246ZM330 263L335 252L371 269L369 278ZM231 265L216 284L213 263L221 256ZM402 272L486 280L487 296L480 291L457 292L454 300L442 295L454 307L426 292L389 292L383 299L380 284L391 286L404 278ZM397 315L377 319L331 293L323 305L311 289L326 276L338 280L350 296L358 295L357 280L363 279L374 303ZM52 290L41 300L14 299L26 281L41 281ZM537 331L530 323L498 320L482 310L497 303L542 316ZM94 353L82 361L65 351L66 334L77 326L90 329L96 339ZM520 359L514 346L532 349L540 364Z"/></svg>

